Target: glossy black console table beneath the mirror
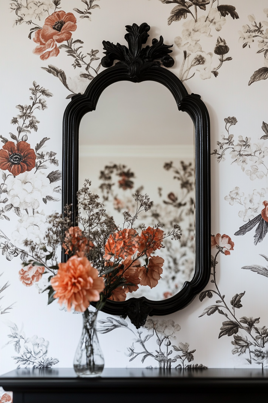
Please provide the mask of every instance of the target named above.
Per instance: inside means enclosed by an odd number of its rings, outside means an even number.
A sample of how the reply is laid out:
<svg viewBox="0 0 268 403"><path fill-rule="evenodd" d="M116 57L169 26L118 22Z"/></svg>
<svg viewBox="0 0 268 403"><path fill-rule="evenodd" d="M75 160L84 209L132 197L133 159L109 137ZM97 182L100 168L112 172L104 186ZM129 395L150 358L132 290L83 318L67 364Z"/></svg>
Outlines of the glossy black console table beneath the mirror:
<svg viewBox="0 0 268 403"><path fill-rule="evenodd" d="M20 368L0 386L13 403L238 403L267 400L268 370L105 368L78 378L72 368Z"/></svg>

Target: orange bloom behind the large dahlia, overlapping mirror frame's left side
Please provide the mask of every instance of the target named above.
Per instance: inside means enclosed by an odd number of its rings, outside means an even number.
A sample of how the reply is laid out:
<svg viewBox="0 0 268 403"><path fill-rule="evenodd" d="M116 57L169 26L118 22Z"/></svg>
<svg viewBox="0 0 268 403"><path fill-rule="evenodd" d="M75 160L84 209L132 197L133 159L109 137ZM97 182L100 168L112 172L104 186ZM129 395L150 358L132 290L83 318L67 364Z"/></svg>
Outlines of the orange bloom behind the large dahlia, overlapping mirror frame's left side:
<svg viewBox="0 0 268 403"><path fill-rule="evenodd" d="M82 230L78 226L70 227L65 232L62 246L67 254L74 254L80 257L85 256L94 247L93 243L83 236Z"/></svg>

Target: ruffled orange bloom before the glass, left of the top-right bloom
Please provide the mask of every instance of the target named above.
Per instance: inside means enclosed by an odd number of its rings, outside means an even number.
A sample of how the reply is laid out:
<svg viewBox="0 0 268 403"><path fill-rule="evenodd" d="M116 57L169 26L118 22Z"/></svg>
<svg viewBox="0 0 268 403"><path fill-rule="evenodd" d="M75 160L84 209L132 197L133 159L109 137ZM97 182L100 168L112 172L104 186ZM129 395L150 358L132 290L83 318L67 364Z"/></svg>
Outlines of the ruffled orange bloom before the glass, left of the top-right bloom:
<svg viewBox="0 0 268 403"><path fill-rule="evenodd" d="M104 259L125 259L134 255L138 249L138 235L135 229L123 229L110 235L105 245Z"/></svg>

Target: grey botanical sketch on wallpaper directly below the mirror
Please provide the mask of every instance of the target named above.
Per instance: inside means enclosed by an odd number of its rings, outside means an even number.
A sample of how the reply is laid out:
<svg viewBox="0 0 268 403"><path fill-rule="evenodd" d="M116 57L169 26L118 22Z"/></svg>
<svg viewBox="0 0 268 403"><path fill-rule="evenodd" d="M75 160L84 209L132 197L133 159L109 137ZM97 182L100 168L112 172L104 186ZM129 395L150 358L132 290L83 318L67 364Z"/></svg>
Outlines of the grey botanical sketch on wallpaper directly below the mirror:
<svg viewBox="0 0 268 403"><path fill-rule="evenodd" d="M147 319L143 330L133 331L128 323L120 317L107 317L106 319L98 320L100 328L97 329L101 334L111 332L112 330L123 328L130 330L135 339L130 347L127 347L129 362L140 356L141 363L150 357L157 361L156 368L207 368L203 364L190 364L194 361L195 349L191 350L188 343L175 342L177 339L176 333L180 330L180 325L175 324L174 320L153 320ZM144 337L144 332L149 331ZM148 341L151 340L148 347ZM155 341L155 350L152 348L152 341ZM174 345L172 345L174 343ZM148 360L147 360L148 361ZM153 368L148 366L147 368Z"/></svg>

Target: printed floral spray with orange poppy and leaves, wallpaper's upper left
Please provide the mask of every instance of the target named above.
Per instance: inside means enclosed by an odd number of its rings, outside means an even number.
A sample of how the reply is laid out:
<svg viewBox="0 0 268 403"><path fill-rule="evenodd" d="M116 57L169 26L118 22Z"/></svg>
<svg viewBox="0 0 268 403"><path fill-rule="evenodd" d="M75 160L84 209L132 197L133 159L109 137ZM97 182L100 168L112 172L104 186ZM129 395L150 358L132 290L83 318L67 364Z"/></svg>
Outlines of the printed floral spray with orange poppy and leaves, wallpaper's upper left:
<svg viewBox="0 0 268 403"><path fill-rule="evenodd" d="M95 8L100 8L98 4L93 4L99 0L81 0L82 3L86 4L84 10L79 8L74 8L73 11L78 13L80 19L90 19L92 10ZM15 11L18 19L16 19L14 25L21 25L22 23L27 23L27 25L35 25L30 29L29 39L32 39L37 46L33 49L33 53L40 56L41 60L47 60L51 57L56 57L59 54L60 49L65 49L65 52L71 58L74 58L72 66L74 69L78 67L81 69L84 67L85 72L80 73L73 79L67 80L65 72L59 69L53 64L49 64L46 67L42 67L43 70L57 77L61 83L64 85L70 95L66 99L72 98L77 93L83 92L88 85L88 80L92 80L94 75L98 74L100 69L100 63L93 67L92 62L99 60L96 57L98 50L91 50L91 52L82 53L80 50L84 42L81 39L73 40L73 32L76 31L77 21L76 17L72 12L65 12L59 7L61 5L61 0L42 0L42 2L36 2L34 0L29 1L14 1L10 3L10 9ZM40 21L45 19L43 27L39 26ZM38 23L37 23L38 21ZM66 41L66 44L63 42ZM57 44L60 44L59 46ZM86 58L89 60L86 60ZM93 63L94 64L94 63ZM91 69L91 73L89 70ZM68 82L69 81L69 82Z"/></svg>

